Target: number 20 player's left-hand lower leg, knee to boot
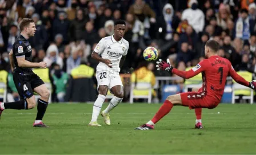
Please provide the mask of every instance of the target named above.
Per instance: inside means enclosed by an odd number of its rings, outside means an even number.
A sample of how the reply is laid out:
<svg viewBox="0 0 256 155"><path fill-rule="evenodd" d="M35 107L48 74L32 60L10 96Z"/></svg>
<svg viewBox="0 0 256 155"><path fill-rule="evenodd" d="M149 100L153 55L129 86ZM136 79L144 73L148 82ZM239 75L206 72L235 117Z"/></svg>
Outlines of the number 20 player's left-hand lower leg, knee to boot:
<svg viewBox="0 0 256 155"><path fill-rule="evenodd" d="M107 85L99 85L99 88L98 88L99 95L93 105L93 115L91 116L91 121L89 123L89 126L98 126L98 127L101 126L100 124L98 124L97 119L98 119L99 113L101 112L102 104L106 99L107 90L108 90Z"/></svg>

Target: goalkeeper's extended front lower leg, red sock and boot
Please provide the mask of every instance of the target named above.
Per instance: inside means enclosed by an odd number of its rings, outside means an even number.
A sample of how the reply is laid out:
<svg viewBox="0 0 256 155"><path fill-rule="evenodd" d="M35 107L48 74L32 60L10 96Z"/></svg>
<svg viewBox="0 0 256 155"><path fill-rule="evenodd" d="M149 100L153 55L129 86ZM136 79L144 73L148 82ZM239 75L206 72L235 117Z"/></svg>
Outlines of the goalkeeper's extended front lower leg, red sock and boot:
<svg viewBox="0 0 256 155"><path fill-rule="evenodd" d="M153 119L151 119L146 124L141 125L141 127L135 128L135 130L150 130L154 129L154 125L161 120L167 113L171 111L174 105L182 105L181 103L181 94L177 95L170 95L167 97L165 102L162 104L162 106L159 108L158 112L155 114ZM183 105L188 106L188 105Z"/></svg>

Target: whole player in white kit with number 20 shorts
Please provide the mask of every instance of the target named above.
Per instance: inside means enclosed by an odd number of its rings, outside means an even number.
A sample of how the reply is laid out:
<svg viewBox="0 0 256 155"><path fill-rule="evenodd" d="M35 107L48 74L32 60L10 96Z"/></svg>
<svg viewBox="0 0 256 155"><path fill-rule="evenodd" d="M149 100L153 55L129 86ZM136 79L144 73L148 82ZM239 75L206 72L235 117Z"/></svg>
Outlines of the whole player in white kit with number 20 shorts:
<svg viewBox="0 0 256 155"><path fill-rule="evenodd" d="M91 58L99 61L96 69L99 95L93 105L93 116L89 123L91 126L101 126L97 123L97 119L108 89L114 94L114 97L101 113L107 125L110 125L109 112L117 107L123 99L123 84L119 71L125 62L129 48L129 42L123 39L123 35L125 35L125 21L117 20L114 22L114 35L102 38L91 54Z"/></svg>

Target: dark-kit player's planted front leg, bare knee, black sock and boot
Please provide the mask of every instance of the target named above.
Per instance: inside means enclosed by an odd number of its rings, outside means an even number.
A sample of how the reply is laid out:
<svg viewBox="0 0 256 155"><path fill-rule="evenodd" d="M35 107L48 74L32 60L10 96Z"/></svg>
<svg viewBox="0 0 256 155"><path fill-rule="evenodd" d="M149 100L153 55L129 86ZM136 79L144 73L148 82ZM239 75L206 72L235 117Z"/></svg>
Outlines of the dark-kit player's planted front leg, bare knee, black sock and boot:
<svg viewBox="0 0 256 155"><path fill-rule="evenodd" d="M48 127L43 123L43 116L45 115L46 109L48 107L48 100L50 97L50 91L46 88L45 84L39 85L34 89L36 93L38 93L41 97L37 103L37 117L35 118L35 122L33 127Z"/></svg>

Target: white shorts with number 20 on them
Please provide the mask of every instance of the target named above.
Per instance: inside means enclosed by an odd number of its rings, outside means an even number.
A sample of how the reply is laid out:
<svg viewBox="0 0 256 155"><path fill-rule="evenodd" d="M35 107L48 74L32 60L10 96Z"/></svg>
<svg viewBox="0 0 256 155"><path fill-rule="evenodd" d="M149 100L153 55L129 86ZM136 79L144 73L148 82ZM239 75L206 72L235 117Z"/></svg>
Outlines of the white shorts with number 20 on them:
<svg viewBox="0 0 256 155"><path fill-rule="evenodd" d="M96 78L98 87L99 85L107 85L109 90L114 87L115 85L122 85L122 80L120 78L119 72L110 72L110 71L96 71Z"/></svg>

